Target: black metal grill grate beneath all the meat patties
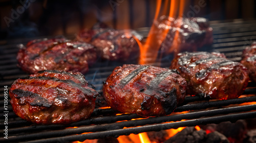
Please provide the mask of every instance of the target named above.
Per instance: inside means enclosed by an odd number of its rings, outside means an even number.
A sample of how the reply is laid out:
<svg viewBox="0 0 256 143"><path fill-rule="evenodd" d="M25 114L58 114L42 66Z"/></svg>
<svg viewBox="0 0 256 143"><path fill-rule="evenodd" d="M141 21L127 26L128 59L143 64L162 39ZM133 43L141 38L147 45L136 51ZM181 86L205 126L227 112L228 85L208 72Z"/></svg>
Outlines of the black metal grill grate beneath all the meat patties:
<svg viewBox="0 0 256 143"><path fill-rule="evenodd" d="M202 47L202 51L219 51L225 53L227 58L240 61L242 50L253 40L256 40L256 20L233 21L226 23L213 23L214 44ZM140 29L139 32L145 35L148 28ZM1 129L4 129L4 86L10 85L17 78L26 77L27 74L16 67L16 44L26 43L30 39L18 39L11 41L12 44L0 48L0 116ZM122 65L120 62L97 62L90 68L86 79L96 86L99 93L102 93L102 81L111 74L112 70ZM168 67L170 63L161 64ZM159 131L170 128L196 126L209 123L220 123L224 121L235 122L244 118L256 117L256 105L241 105L247 102L256 102L256 83L250 82L244 92L243 98L233 100L206 100L200 97L186 97L182 106L174 113L161 117L142 117L137 114L120 114L112 109L97 108L88 120L72 123L69 125L33 125L17 117L12 111L10 99L8 99L8 139L0 138L0 141L7 142L70 142L83 141L85 139L103 138L108 136L118 137L130 133L147 131ZM186 112L183 112L186 111ZM188 112L190 111L190 112ZM116 115L118 114L118 115ZM140 120L133 120L133 119ZM186 120L186 121L181 121ZM176 122L177 121L177 122ZM170 123L172 122L172 123ZM175 122L175 123L173 123ZM140 127L138 127L140 126ZM68 128L78 127L78 128ZM126 128L124 128L126 127ZM84 132L92 132L81 134ZM1 130L0 134L3 135Z"/></svg>

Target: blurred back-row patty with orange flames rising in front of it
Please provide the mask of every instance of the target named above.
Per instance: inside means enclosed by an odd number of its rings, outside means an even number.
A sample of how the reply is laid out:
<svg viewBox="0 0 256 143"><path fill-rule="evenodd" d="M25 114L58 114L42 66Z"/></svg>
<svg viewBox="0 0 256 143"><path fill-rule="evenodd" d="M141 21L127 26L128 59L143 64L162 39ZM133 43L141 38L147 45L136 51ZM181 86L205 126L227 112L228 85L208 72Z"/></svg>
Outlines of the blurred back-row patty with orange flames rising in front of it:
<svg viewBox="0 0 256 143"><path fill-rule="evenodd" d="M163 55L174 51L197 51L199 47L211 44L213 41L212 28L209 27L208 20L203 17L175 19L163 15L154 24L160 29L160 33L162 29L169 29L160 46L160 52ZM162 34L162 36L165 35Z"/></svg>

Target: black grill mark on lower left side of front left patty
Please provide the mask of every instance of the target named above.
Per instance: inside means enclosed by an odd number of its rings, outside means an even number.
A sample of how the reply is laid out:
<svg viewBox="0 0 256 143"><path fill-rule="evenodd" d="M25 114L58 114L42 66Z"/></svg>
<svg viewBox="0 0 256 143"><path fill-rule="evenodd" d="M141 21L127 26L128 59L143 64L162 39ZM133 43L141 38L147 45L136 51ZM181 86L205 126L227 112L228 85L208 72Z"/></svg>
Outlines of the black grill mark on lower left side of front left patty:
<svg viewBox="0 0 256 143"><path fill-rule="evenodd" d="M26 91L23 89L14 89L12 90L14 94L17 96L15 98L19 99L22 97L30 97L35 98L33 102L30 103L31 106L44 106L44 107L51 107L52 103L50 103L47 99L41 97L39 94Z"/></svg>

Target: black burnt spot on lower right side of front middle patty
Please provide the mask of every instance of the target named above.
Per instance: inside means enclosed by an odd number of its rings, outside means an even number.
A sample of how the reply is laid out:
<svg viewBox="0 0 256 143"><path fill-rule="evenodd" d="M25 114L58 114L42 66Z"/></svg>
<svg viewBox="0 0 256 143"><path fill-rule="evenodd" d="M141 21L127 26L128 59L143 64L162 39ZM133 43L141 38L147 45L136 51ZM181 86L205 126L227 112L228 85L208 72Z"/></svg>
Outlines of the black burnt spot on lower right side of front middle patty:
<svg viewBox="0 0 256 143"><path fill-rule="evenodd" d="M177 89L174 87L167 93L167 98L163 100L162 106L166 114L170 114L177 107Z"/></svg>

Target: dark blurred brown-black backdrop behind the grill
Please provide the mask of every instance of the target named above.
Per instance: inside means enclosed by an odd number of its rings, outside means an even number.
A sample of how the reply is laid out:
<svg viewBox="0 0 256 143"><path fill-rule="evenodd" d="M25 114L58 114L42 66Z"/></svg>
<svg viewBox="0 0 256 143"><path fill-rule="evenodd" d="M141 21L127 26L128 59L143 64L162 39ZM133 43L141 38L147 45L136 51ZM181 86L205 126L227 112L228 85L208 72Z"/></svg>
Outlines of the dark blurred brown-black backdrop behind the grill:
<svg viewBox="0 0 256 143"><path fill-rule="evenodd" d="M99 21L116 29L137 30L150 27L156 12L156 2L157 0L0 0L0 39L75 35ZM161 9L166 4L169 7L170 2L162 1ZM212 23L251 20L256 17L255 6L256 0L190 0L185 1L183 15L202 16Z"/></svg>

